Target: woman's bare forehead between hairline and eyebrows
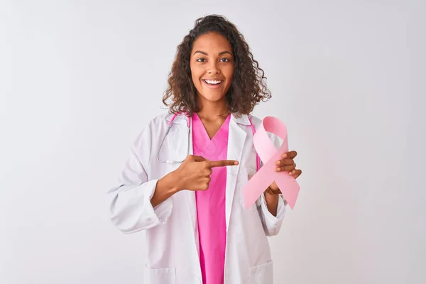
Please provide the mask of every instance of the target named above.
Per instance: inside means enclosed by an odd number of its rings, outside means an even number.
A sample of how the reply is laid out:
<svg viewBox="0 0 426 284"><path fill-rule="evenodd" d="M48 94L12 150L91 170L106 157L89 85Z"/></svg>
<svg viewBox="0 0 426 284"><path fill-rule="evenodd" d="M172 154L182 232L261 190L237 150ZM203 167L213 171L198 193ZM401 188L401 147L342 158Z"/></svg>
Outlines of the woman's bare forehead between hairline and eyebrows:
<svg viewBox="0 0 426 284"><path fill-rule="evenodd" d="M192 45L192 53L196 50L201 50L206 53L220 53L222 51L229 51L232 53L231 44L219 33L205 33L200 35Z"/></svg>

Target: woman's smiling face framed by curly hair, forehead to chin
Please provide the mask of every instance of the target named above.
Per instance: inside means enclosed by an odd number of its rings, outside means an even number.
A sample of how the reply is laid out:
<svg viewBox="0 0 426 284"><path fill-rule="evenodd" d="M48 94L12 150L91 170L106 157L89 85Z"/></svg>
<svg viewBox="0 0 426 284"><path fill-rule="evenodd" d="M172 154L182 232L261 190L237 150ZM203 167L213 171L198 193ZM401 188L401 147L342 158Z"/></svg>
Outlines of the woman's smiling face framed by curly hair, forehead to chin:
<svg viewBox="0 0 426 284"><path fill-rule="evenodd" d="M190 68L201 102L225 102L234 75L234 56L223 35L200 35L192 45Z"/></svg>

